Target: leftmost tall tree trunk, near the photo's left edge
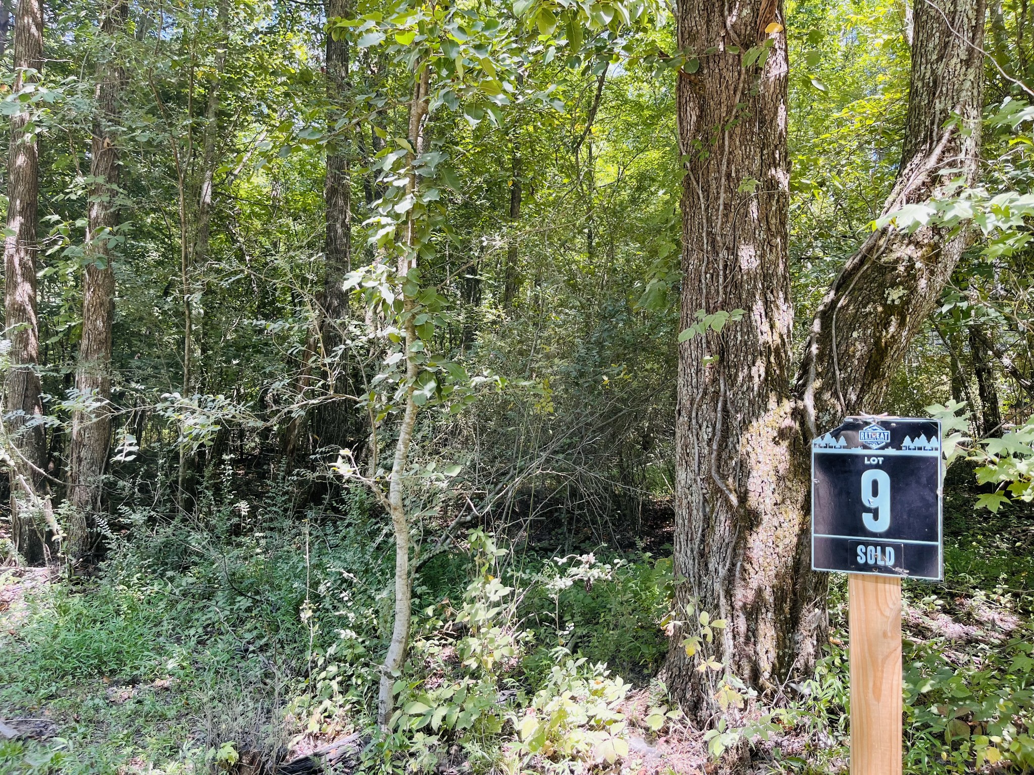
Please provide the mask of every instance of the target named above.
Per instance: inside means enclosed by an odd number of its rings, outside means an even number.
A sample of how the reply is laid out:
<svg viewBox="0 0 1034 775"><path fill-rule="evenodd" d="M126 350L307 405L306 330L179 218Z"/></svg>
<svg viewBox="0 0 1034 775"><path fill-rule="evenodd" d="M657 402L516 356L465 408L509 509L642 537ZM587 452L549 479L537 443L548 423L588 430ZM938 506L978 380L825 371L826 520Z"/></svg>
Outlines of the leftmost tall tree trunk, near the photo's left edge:
<svg viewBox="0 0 1034 775"><path fill-rule="evenodd" d="M37 79L42 69L41 0L19 0L14 13L14 91ZM47 544L42 517L50 509L43 467L47 439L39 382L39 324L36 320L36 208L39 196L39 147L27 134L26 113L10 122L7 154L7 237L4 238L4 311L10 339L11 370L4 413L11 419L14 462L10 471L10 510L14 548L31 564L43 562Z"/></svg>

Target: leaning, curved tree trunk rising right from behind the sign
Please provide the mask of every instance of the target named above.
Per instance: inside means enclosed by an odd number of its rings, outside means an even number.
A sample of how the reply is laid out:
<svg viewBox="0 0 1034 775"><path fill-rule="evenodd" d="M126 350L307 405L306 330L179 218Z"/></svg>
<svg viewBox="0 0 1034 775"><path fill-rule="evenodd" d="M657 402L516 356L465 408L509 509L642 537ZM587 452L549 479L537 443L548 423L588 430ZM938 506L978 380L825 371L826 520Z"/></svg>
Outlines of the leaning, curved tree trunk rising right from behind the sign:
<svg viewBox="0 0 1034 775"><path fill-rule="evenodd" d="M936 4L935 4L936 2ZM884 213L972 184L980 153L984 1L916 3L902 164ZM953 121L952 116L959 120ZM941 175L946 172L948 174ZM950 172L948 172L950 171ZM920 332L967 240L940 227L911 235L880 228L848 259L812 323L794 391L800 441L845 414L878 413L890 380ZM799 509L796 585L788 626L798 665L809 667L825 631L827 574L811 571L808 445L795 446Z"/></svg>

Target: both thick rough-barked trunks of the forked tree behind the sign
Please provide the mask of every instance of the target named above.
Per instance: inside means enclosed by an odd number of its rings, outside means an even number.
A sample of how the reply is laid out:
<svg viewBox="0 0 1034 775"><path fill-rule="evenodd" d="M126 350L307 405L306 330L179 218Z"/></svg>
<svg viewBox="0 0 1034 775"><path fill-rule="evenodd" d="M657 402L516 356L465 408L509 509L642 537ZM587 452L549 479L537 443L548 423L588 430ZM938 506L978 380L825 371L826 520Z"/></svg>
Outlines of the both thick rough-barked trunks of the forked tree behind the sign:
<svg viewBox="0 0 1034 775"><path fill-rule="evenodd" d="M974 178L983 13L983 0L916 4L903 163L885 212L938 194L947 179ZM788 390L784 37L773 33L756 85L727 53L756 44L773 20L782 23L781 3L740 3L728 19L701 2L678 13L680 48L720 52L679 76L679 137L691 159L682 322L697 310L747 313L679 351L676 601L696 598L728 621L714 655L762 692L795 667L809 670L825 632L826 577L810 569L810 440L844 414L880 411L965 239L933 227L875 231L824 299ZM668 685L705 718L717 677L691 670L686 633L672 640Z"/></svg>

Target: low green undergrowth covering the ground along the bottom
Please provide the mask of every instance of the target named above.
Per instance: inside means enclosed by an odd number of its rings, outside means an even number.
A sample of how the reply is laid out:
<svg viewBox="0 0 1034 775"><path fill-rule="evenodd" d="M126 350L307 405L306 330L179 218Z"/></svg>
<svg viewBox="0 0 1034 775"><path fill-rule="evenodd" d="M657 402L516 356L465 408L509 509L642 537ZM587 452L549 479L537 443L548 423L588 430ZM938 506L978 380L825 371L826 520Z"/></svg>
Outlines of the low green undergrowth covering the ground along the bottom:
<svg viewBox="0 0 1034 775"><path fill-rule="evenodd" d="M969 471L951 474L947 581L905 585L905 769L1024 772L1034 530L978 517ZM4 569L0 716L25 737L0 743L0 773L847 772L842 581L814 678L759 699L729 677L738 725L702 732L663 683L663 552L505 551L480 528L421 568L399 710L376 732L388 538L363 491L299 521L291 487L204 522L142 513L88 580Z"/></svg>

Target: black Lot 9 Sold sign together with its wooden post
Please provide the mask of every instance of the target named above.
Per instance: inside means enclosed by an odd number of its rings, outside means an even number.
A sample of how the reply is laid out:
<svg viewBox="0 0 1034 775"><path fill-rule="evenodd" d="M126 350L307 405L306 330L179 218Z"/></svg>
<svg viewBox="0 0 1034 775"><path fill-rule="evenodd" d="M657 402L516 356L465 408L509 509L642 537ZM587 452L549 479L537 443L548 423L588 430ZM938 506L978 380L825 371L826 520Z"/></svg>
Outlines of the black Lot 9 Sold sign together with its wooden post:
<svg viewBox="0 0 1034 775"><path fill-rule="evenodd" d="M943 576L941 426L848 417L812 442L812 568L850 574L851 775L902 772L902 577Z"/></svg>

